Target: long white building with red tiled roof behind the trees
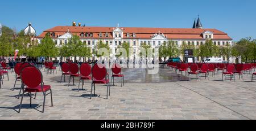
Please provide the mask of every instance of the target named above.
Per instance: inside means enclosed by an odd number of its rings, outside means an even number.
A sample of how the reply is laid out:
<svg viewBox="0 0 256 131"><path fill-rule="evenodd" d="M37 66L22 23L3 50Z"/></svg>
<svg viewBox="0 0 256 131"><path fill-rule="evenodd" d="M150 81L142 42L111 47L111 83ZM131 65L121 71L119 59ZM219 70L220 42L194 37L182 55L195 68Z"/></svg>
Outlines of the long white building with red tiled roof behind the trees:
<svg viewBox="0 0 256 131"><path fill-rule="evenodd" d="M217 46L232 45L232 38L227 33L217 29L203 29L200 19L197 22L195 20L193 28L132 28L119 27L119 25L117 27L81 27L81 24L76 26L73 23L72 26L57 26L44 30L37 37L39 43L47 33L55 41L56 46L67 44L69 38L77 35L90 47L92 53L96 50L97 43L102 41L109 45L110 56L115 55L118 45L123 42L130 43L135 54L140 52L142 43L152 48L159 47L168 41L174 41L179 47L184 43L200 46L207 40L212 40ZM225 57L224 60L226 60Z"/></svg>

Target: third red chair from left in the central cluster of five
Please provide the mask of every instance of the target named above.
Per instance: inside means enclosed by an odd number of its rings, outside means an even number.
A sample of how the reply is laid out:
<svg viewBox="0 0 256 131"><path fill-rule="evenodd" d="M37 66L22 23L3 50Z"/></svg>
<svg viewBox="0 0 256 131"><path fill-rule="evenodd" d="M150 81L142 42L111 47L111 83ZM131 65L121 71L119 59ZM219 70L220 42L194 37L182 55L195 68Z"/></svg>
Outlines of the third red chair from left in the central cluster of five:
<svg viewBox="0 0 256 131"><path fill-rule="evenodd" d="M82 81L82 90L84 86L84 80L92 80L92 76L90 75L91 73L91 67L88 63L82 63L80 66L80 79L79 79L79 89L80 90L80 81Z"/></svg>

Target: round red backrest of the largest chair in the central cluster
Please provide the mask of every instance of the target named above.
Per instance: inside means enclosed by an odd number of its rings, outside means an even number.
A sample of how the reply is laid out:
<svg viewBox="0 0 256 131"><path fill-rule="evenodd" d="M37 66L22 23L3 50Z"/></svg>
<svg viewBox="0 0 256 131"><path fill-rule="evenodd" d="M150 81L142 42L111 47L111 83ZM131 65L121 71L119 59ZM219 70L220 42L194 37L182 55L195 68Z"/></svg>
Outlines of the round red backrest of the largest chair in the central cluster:
<svg viewBox="0 0 256 131"><path fill-rule="evenodd" d="M103 64L94 64L92 67L92 77L96 80L103 80L106 77L107 71Z"/></svg>

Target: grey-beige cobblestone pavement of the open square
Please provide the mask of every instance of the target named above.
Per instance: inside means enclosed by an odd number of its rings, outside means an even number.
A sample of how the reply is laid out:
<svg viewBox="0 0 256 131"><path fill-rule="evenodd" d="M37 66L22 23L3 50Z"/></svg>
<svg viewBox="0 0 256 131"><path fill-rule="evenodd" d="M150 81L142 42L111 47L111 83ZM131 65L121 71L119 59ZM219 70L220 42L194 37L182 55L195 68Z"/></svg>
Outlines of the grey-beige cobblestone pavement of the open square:
<svg viewBox="0 0 256 131"><path fill-rule="evenodd" d="M175 76L170 69L161 69ZM85 89L77 92L75 86L60 83L57 75L43 72L44 83L53 90L53 107L50 96L46 99L45 112L41 113L43 97L38 93L29 107L29 97L24 97L23 107L17 113L20 99L20 81L15 91L14 73L10 80L3 80L0 89L0 119L256 119L256 81L220 81L221 75L210 76L209 80L176 82L126 82L111 87L109 99L106 86L96 85L98 97L89 99L90 82ZM36 110L36 109L37 110ZM39 110L39 111L38 111Z"/></svg>

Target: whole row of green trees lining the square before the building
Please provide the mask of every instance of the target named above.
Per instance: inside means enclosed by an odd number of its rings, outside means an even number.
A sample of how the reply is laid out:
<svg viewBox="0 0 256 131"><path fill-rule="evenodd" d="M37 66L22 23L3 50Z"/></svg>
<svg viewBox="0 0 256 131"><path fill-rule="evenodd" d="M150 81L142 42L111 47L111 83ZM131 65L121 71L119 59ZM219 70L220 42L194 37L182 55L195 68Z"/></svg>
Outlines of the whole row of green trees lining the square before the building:
<svg viewBox="0 0 256 131"><path fill-rule="evenodd" d="M2 36L0 37L0 56L13 56L16 49L19 50L18 56L26 55L32 58L44 56L47 59L49 57L55 58L56 56L70 57L73 56L75 59L77 56L84 58L91 57L92 54L96 54L97 57L103 56L104 54L98 53L98 50L105 48L109 51L110 47L108 44L102 41L96 44L95 52L90 50L90 47L86 43L80 41L79 36L73 36L67 44L61 47L56 47L55 42L51 39L49 34L46 34L40 44L38 41L31 41L30 36L25 36L23 30L20 31L14 37L14 31L8 27L2 27ZM147 50L151 49L150 45L142 43L141 47ZM130 43L122 43L118 46L118 49L125 49L126 55L130 57L133 55L129 52ZM167 57L172 58L176 56L183 56L184 50L193 50L194 56L200 56L201 58L212 57L212 56L234 56L236 58L242 57L242 62L252 62L256 59L256 40L249 38L242 38L234 46L217 46L214 45L212 40L206 41L203 45L195 46L184 43L180 47L176 45L174 41L164 42L159 47L159 57L166 59ZM152 50L154 52L154 49ZM121 56L122 53L117 52L115 56ZM141 53L139 55L142 55ZM148 57L148 54L146 54Z"/></svg>

